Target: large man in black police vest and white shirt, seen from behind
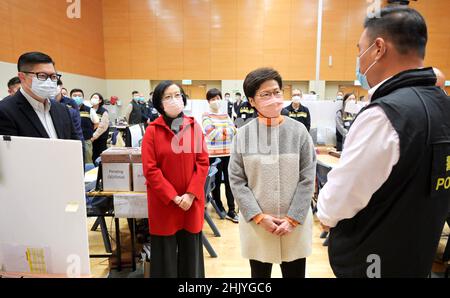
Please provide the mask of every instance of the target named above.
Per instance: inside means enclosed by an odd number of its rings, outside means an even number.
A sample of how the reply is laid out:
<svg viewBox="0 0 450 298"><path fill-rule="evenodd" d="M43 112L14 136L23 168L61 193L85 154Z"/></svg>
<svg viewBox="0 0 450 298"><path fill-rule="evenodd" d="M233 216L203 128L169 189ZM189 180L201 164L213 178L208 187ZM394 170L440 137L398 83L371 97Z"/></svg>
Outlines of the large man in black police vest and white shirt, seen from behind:
<svg viewBox="0 0 450 298"><path fill-rule="evenodd" d="M328 175L318 217L338 277L427 277L450 207L450 100L424 68L427 26L392 6L359 41L370 104Z"/></svg>

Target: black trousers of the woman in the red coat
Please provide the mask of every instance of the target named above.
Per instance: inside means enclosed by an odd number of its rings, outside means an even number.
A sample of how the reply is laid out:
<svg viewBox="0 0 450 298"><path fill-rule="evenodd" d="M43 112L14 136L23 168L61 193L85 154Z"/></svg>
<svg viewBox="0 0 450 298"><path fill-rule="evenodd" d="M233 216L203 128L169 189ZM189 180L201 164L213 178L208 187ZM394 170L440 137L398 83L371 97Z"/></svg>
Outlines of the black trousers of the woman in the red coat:
<svg viewBox="0 0 450 298"><path fill-rule="evenodd" d="M150 236L150 277L204 278L202 233Z"/></svg>

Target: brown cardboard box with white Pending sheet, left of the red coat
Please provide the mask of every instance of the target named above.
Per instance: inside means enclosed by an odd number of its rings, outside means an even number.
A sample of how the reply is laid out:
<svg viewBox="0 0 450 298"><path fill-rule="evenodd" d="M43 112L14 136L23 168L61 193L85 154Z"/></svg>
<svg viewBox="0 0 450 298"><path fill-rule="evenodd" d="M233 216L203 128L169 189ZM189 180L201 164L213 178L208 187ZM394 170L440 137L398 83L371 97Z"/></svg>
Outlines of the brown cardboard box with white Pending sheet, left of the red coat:
<svg viewBox="0 0 450 298"><path fill-rule="evenodd" d="M129 148L110 148L102 153L103 190L131 191Z"/></svg>

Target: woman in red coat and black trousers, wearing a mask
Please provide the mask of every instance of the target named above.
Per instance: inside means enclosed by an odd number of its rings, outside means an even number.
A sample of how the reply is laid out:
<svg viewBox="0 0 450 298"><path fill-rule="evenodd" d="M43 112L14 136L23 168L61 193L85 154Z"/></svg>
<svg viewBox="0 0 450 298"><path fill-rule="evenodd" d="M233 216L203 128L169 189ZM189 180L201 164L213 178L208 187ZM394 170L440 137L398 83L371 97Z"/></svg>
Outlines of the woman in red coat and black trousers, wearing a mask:
<svg viewBox="0 0 450 298"><path fill-rule="evenodd" d="M201 231L209 159L203 132L183 114L184 92L171 81L160 83L153 104L161 116L142 143L147 179L151 276L205 276Z"/></svg>

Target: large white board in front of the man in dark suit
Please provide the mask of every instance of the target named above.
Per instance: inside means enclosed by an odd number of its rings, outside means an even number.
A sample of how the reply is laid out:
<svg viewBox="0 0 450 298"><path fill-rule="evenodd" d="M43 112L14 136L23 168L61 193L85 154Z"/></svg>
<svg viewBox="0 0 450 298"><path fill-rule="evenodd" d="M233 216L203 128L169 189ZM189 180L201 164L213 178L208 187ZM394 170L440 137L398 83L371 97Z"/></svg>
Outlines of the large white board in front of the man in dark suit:
<svg viewBox="0 0 450 298"><path fill-rule="evenodd" d="M0 136L0 270L30 272L33 248L48 274L90 275L82 158L78 141Z"/></svg>

